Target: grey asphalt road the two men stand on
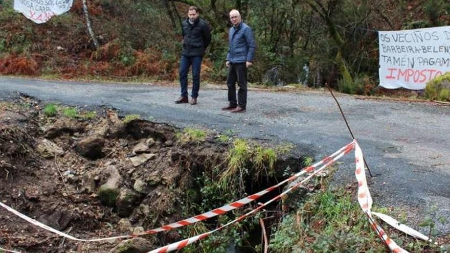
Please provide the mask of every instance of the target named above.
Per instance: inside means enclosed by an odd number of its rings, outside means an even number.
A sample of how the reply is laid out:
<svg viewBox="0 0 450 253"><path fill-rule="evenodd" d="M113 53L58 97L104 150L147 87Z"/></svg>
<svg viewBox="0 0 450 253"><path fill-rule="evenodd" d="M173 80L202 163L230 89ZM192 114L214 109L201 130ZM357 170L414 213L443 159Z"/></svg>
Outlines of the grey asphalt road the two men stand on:
<svg viewBox="0 0 450 253"><path fill-rule="evenodd" d="M100 84L0 77L0 99L17 92L43 102L111 106L123 114L177 127L202 127L241 137L291 142L320 159L351 142L338 107L328 93L250 90L245 113L221 111L222 87L201 87L197 105L174 104L178 87ZM374 204L406 211L408 225L432 217L440 235L450 233L450 107L423 102L358 99L339 95L370 170ZM337 184L355 183L354 157L335 174ZM445 217L446 222L441 222Z"/></svg>

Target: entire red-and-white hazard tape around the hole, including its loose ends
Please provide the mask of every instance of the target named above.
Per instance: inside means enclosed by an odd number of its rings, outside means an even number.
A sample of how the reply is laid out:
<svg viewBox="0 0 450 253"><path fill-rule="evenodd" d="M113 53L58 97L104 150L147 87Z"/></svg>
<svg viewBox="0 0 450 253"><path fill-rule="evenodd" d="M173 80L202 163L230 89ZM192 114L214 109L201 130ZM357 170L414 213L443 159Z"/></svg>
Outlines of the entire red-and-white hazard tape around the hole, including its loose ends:
<svg viewBox="0 0 450 253"><path fill-rule="evenodd" d="M397 252L401 252L401 253L406 253L408 251L404 250L403 248L399 247L394 241L392 241L388 235L386 235L385 231L383 230L383 228L381 228L376 221L372 218L372 213L371 213L371 208L372 208L372 197L370 196L370 192L369 192L369 188L367 187L367 180L366 180L366 173L365 173L365 166L364 166L364 158L363 158L363 153L361 151L361 148L359 148L356 140L353 140L353 142L349 143L348 145L344 146L343 148L341 148L340 150L336 151L335 153L333 153L332 155L325 157L324 159L322 159L319 163L316 163L310 167L305 168L304 170L296 173L295 175L292 175L291 177L285 179L284 181L278 183L276 186L267 188L266 190L260 191L256 194L253 194L251 196L245 197L243 199L240 199L238 201L235 201L233 203L227 204L222 206L221 208L218 209L214 209L212 211L206 212L204 214L201 215L197 215L195 217L189 218L189 219L185 219L182 221L178 221L175 223L171 223L159 228L155 228L155 229L151 229L149 231L145 231L139 234L133 234L133 235L126 235L126 236L117 236L117 237L109 237L109 238L101 238L101 239L89 239L89 240L84 240L84 239L79 239L79 238L75 238L71 235L62 233L60 231L57 231L56 229L49 227L45 224L42 224L24 214L21 214L17 211L15 211L14 209L10 208L9 206L5 205L4 203L0 202L0 206L2 206L3 208L7 209L9 212L17 215L18 217L27 220L28 222L39 226L41 228L46 229L47 231L50 231L52 233L58 234L60 236L63 236L65 238L69 238L72 240L76 240L76 241L83 241L83 242L98 242L98 241L105 241L105 240L116 240L116 239L125 239L125 238L131 238L131 237L137 237L140 235L145 235L145 234L155 234L158 232L162 232L162 231L168 231L170 229L173 228L177 228L177 227L182 227L182 226L186 226L186 225L190 225L193 223L196 223L198 221L202 221L217 215L222 215L225 214L231 210L240 208L242 205L250 203L258 198L260 198L261 196L263 196L264 194L273 191L274 189L276 189L277 187L280 187L282 185L284 185L284 183L288 182L288 181L292 181L297 179L299 176L310 172L310 174L304 178L303 180L301 180L300 182L296 183L294 186L289 187L286 191L284 191L283 193L281 193L280 195L272 198L271 200L265 202L264 204L261 204L258 206L258 208L250 211L249 213L246 213L242 216L240 216L239 218L230 221L229 223L220 226L216 229L214 229L213 231L201 234L201 235L197 235L179 242L175 242L172 243L170 245L164 246L164 247L160 247L158 249L154 249L152 251L150 251L149 253L165 253L165 252L169 252L169 251L173 251L173 250L177 250L177 249L181 249L186 247L189 244L192 244L198 240L204 239L206 237L208 237L209 235L211 235L214 232L217 232L219 230L221 230L224 227L227 227L231 224L237 223L241 220L243 220L246 217L249 217L255 213L257 213L259 210L261 210L264 206L280 199L281 197L285 196L287 193L289 193L290 191L300 187L304 182L306 182L307 180L309 180L311 177L313 177L314 175L316 175L317 173L323 171L325 168L327 168L328 166L330 166L331 164L333 164L334 162L336 162L336 160L340 159L342 156L348 154L350 151L353 150L353 148L355 149L355 176L356 176L356 180L358 182L358 194L357 194L357 199L358 199L358 203L361 206L363 212L367 215L368 219L369 219L369 223L371 224L372 228L375 230L375 232L377 233L377 235L381 238L381 240L383 240L383 242L386 243L386 245L395 253ZM317 167L321 166L321 168L317 169ZM382 215L382 214L378 214L378 213L374 213L374 215L380 217L381 219L385 220L388 224L393 225L395 228L398 228L400 231L407 233L409 235L415 236L419 239L423 239L423 240L428 240L428 237L420 234L419 232L415 231L414 229L406 226L406 225L399 225L399 224L394 224L395 220L392 219L391 217L387 216L387 215ZM398 222L397 222L398 223ZM10 251L10 252L16 252L16 251Z"/></svg>

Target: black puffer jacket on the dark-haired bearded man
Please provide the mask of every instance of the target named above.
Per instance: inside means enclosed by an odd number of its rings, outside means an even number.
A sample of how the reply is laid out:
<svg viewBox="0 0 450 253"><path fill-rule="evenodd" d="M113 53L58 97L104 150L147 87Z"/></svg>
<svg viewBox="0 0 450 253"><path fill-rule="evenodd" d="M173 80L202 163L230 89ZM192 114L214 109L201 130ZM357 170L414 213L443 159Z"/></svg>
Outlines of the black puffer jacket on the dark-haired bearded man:
<svg viewBox="0 0 450 253"><path fill-rule="evenodd" d="M189 19L183 24L183 52L184 56L204 56L205 50L211 42L211 31L207 22L197 18L191 25Z"/></svg>

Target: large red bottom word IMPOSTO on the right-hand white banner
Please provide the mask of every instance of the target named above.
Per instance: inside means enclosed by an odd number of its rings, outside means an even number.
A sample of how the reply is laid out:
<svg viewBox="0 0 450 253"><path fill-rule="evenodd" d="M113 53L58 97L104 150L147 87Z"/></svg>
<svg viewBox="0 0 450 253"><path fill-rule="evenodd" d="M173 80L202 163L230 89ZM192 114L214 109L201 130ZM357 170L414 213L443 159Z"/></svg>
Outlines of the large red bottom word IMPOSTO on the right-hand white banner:
<svg viewBox="0 0 450 253"><path fill-rule="evenodd" d="M413 70L412 68L388 68L389 75L386 79L395 79L405 82L413 81L415 83L428 82L438 76L442 76L442 72L438 70Z"/></svg>

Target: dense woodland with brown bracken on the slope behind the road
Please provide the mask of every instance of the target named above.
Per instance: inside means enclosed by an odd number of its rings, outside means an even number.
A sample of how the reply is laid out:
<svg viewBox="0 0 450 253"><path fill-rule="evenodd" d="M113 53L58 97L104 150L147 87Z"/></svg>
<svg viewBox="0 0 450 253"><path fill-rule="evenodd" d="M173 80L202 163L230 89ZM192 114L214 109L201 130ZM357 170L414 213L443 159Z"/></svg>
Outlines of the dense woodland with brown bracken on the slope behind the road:
<svg viewBox="0 0 450 253"><path fill-rule="evenodd" d="M224 82L228 12L236 8L257 40L250 81L267 85L325 83L371 94L378 83L377 30L450 25L447 0L88 0L96 48L82 1L37 25L0 0L0 73L58 78L175 80L181 20L201 9L213 38L202 78ZM305 71L305 65L308 71Z"/></svg>

